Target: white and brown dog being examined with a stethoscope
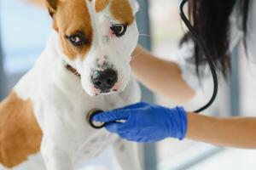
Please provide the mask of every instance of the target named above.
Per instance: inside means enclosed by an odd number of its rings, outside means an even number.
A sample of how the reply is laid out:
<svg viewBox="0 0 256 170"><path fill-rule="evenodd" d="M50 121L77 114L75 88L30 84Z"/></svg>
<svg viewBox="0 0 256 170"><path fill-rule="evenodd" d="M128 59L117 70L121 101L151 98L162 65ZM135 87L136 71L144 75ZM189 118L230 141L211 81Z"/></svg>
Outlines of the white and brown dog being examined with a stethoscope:
<svg viewBox="0 0 256 170"><path fill-rule="evenodd" d="M49 41L0 104L0 169L74 170L110 144L122 169L141 169L137 144L86 121L93 109L140 100L129 65L139 36L136 0L45 3Z"/></svg>

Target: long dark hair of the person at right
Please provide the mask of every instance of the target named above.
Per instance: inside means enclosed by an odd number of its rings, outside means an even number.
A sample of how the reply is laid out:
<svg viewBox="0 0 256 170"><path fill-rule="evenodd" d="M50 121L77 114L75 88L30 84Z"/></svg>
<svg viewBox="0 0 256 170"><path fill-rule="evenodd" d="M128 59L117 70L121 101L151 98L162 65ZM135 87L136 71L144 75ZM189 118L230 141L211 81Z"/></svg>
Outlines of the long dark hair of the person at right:
<svg viewBox="0 0 256 170"><path fill-rule="evenodd" d="M222 72L224 77L230 73L230 14L236 3L239 3L239 13L242 15L242 29L247 34L247 15L251 0L190 0L189 20L195 26L202 41L205 42L212 55L214 65ZM245 38L246 36L244 36ZM187 33L181 43L190 39ZM244 45L246 41L244 39ZM205 65L206 59L198 44L195 43L196 72L199 75L199 65Z"/></svg>

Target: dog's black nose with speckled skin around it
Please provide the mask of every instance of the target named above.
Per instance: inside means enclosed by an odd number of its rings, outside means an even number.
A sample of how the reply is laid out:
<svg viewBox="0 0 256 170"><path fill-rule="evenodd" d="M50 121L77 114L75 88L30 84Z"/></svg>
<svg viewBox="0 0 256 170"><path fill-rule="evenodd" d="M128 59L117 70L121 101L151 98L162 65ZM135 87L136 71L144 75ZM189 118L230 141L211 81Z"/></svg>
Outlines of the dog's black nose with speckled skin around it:
<svg viewBox="0 0 256 170"><path fill-rule="evenodd" d="M117 81L118 75L113 69L94 71L91 75L91 82L94 87L100 89L102 93L108 93Z"/></svg>

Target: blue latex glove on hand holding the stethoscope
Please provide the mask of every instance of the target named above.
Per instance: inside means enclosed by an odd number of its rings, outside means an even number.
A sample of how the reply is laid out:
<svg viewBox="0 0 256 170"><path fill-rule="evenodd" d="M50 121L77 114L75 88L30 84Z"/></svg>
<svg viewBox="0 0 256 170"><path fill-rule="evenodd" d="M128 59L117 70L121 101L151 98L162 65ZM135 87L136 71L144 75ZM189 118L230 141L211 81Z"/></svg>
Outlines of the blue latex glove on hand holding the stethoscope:
<svg viewBox="0 0 256 170"><path fill-rule="evenodd" d="M167 109L159 105L137 103L123 109L108 111L93 117L108 122L106 128L123 139L139 143L156 142L166 138L184 139L188 119L183 107ZM125 122L115 122L126 120Z"/></svg>

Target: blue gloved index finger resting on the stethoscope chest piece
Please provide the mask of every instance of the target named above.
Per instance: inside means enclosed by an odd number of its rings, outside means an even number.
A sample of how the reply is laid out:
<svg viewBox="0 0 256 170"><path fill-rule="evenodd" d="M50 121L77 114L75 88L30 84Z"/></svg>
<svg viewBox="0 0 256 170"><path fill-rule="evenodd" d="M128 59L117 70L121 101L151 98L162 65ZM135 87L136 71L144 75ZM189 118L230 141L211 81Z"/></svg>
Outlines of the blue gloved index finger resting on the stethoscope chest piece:
<svg viewBox="0 0 256 170"><path fill-rule="evenodd" d="M96 122L115 122L118 120L125 120L129 115L129 110L113 110L97 114L96 116L93 116L92 119Z"/></svg>

